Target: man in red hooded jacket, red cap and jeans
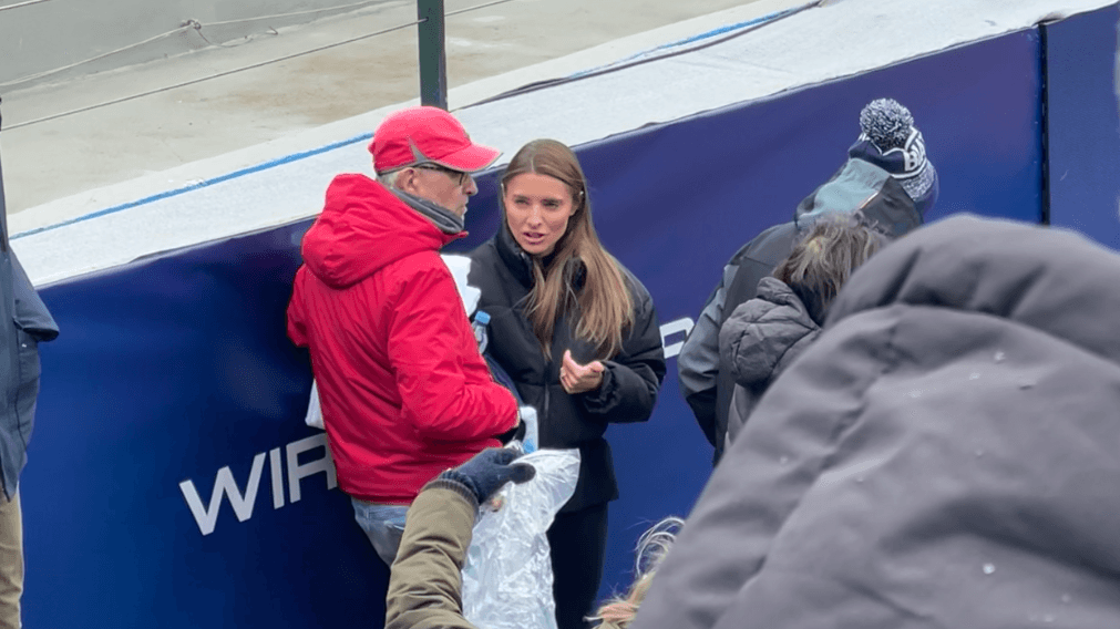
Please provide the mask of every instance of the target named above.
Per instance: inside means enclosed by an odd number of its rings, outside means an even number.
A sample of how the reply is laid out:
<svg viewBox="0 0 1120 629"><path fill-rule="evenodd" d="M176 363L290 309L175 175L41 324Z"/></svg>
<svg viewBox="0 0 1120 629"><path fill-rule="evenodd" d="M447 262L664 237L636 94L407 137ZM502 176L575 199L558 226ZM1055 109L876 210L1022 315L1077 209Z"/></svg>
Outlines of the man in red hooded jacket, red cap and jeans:
<svg viewBox="0 0 1120 629"><path fill-rule="evenodd" d="M377 180L339 175L304 236L288 336L311 354L338 485L392 564L404 515L441 471L514 429L439 250L463 237L470 173L497 159L451 114L411 107L370 144Z"/></svg>

